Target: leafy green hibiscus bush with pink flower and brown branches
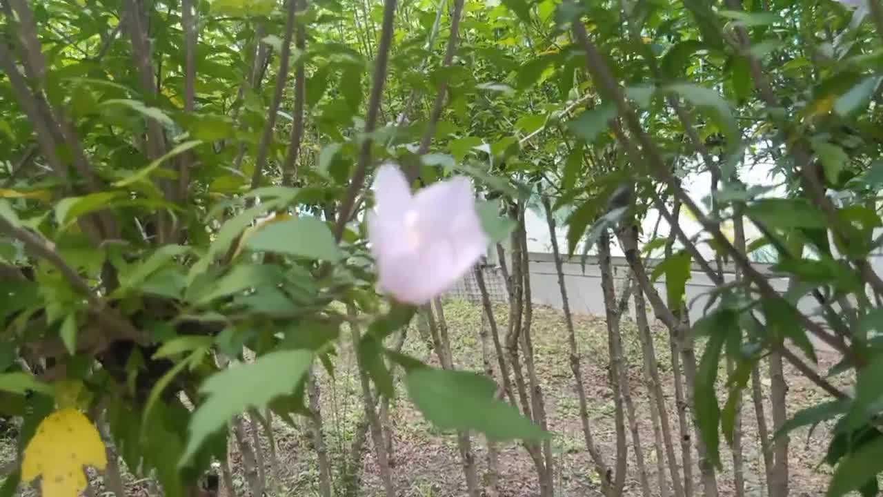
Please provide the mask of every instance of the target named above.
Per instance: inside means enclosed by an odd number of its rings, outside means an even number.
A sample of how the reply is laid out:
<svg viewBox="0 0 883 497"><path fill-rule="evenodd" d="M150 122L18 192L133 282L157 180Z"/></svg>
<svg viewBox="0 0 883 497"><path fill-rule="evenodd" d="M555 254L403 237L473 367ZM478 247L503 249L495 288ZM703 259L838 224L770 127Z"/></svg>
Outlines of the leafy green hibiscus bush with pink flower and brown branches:
<svg viewBox="0 0 883 497"><path fill-rule="evenodd" d="M829 495L878 492L877 0L0 7L0 410L20 422L0 493L83 490L84 465L117 464L102 437L166 495L192 493L226 459L231 421L315 417L314 371L333 375L345 346L375 449L378 399L401 373L442 430L520 440L551 496L554 427L518 376L519 354L533 367L520 325L499 387L443 351L436 368L401 349L415 314L486 256L508 254L520 316L525 211L544 209L566 231L556 262L621 241L683 348L707 495L751 371L782 361L830 400L787 413L777 383L776 447L836 420ZM743 181L755 163L770 184ZM704 199L685 190L695 175L711 179ZM668 237L638 233L651 212ZM787 291L751 264L760 250ZM698 323L683 312L691 268L716 284ZM834 371L815 368L818 343ZM592 457L600 488L622 492ZM774 474L784 496L787 470Z"/></svg>

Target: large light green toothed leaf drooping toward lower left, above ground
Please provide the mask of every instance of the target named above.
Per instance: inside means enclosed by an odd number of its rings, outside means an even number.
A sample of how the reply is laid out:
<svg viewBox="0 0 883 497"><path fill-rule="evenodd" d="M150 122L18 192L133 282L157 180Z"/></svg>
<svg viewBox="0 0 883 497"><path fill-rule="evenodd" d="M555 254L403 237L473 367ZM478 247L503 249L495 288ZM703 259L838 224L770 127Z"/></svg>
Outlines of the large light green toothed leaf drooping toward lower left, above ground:
<svg viewBox="0 0 883 497"><path fill-rule="evenodd" d="M291 394L312 363L313 352L283 350L210 376L200 386L200 393L208 398L191 417L190 437L178 466L189 463L202 443L234 416L246 409L263 409L276 397Z"/></svg>

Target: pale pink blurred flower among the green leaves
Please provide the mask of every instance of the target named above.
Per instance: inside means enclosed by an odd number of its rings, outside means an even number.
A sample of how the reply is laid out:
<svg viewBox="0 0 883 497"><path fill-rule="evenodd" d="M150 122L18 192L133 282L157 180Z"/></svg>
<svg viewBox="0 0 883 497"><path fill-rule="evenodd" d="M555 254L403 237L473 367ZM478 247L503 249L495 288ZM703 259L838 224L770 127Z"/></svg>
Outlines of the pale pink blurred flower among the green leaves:
<svg viewBox="0 0 883 497"><path fill-rule="evenodd" d="M411 195L404 174L384 164L374 179L374 199L368 241L377 286L397 301L429 302L485 255L487 235L468 179L440 181Z"/></svg>

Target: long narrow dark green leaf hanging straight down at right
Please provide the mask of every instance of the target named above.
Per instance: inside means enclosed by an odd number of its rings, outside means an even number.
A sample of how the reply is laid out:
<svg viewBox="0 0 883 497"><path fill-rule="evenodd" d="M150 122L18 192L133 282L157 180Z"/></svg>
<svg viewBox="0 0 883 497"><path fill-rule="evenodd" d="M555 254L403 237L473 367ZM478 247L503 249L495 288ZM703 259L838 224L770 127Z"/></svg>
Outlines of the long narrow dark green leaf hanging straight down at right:
<svg viewBox="0 0 883 497"><path fill-rule="evenodd" d="M714 382L717 380L718 363L721 350L727 340L728 333L736 325L736 319L729 310L718 310L700 319L694 329L697 334L708 334L706 349L702 353L696 371L696 384L693 386L696 400L696 423L699 434L706 443L708 457L715 466L721 466L720 437L718 423L721 420L721 409L718 407Z"/></svg>

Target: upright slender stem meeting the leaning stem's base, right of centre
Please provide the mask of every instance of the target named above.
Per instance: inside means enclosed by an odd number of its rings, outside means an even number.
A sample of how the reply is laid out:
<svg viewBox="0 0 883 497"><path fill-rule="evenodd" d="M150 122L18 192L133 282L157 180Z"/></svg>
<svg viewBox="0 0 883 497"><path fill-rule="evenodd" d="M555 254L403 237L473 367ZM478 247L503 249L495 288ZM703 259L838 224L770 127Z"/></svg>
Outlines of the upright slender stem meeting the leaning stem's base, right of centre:
<svg viewBox="0 0 883 497"><path fill-rule="evenodd" d="M619 330L619 314L616 313L616 293L613 283L613 266L610 264L610 235L605 230L601 233L598 243L598 264L601 271L601 291L604 294L604 310L607 315L608 325L608 348L610 353L610 364L608 367L608 376L610 387L613 390L613 399L615 406L614 425L616 429L616 463L614 473L613 493L622 495L625 487L626 470L628 468L628 459L625 440L625 412L623 409L623 395L620 387L619 376L619 360L620 357L616 353L614 346L615 333Z"/></svg>

